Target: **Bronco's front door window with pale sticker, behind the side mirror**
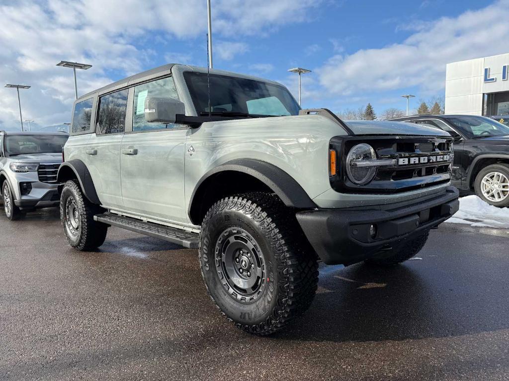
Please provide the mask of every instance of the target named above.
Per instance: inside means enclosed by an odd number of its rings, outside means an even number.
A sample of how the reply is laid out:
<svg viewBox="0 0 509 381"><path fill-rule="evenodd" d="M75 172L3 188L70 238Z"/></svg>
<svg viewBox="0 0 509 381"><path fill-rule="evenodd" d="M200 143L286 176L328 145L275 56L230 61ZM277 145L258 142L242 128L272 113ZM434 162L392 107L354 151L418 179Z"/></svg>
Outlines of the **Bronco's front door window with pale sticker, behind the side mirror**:
<svg viewBox="0 0 509 381"><path fill-rule="evenodd" d="M181 124L149 123L145 120L145 100L147 97L164 97L179 99L172 77L158 79L134 87L134 106L132 115L132 131L149 131L173 129Z"/></svg>

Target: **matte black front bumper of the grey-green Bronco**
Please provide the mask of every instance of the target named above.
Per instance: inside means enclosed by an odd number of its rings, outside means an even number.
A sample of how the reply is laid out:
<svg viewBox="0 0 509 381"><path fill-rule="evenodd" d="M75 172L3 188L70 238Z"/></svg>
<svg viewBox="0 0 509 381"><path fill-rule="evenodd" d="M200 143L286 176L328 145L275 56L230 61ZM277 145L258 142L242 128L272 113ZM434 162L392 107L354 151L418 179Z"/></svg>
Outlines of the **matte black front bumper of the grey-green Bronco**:
<svg viewBox="0 0 509 381"><path fill-rule="evenodd" d="M458 189L448 186L444 193L425 200L305 210L297 212L297 220L324 263L351 265L441 224L458 211L458 197ZM372 225L374 236L370 231Z"/></svg>

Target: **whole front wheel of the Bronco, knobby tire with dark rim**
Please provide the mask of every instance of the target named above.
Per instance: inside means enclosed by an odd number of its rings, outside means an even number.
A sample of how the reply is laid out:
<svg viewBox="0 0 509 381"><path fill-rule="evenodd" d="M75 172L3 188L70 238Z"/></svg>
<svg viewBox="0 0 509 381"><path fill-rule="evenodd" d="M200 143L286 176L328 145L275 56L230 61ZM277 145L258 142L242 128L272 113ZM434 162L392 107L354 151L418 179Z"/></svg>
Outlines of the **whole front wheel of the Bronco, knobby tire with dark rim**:
<svg viewBox="0 0 509 381"><path fill-rule="evenodd" d="M318 261L295 216L273 195L224 198L207 212L199 261L207 292L238 328L268 335L311 304Z"/></svg>

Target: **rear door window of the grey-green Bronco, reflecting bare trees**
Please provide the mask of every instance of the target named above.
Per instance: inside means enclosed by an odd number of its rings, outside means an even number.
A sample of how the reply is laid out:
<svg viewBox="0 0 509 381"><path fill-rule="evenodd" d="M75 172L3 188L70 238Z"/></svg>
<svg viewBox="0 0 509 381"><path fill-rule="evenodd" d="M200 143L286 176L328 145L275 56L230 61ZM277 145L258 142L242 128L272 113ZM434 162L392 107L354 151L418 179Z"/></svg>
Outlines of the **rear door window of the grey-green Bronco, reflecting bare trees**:
<svg viewBox="0 0 509 381"><path fill-rule="evenodd" d="M124 132L128 93L129 90L125 89L99 98L98 135Z"/></svg>

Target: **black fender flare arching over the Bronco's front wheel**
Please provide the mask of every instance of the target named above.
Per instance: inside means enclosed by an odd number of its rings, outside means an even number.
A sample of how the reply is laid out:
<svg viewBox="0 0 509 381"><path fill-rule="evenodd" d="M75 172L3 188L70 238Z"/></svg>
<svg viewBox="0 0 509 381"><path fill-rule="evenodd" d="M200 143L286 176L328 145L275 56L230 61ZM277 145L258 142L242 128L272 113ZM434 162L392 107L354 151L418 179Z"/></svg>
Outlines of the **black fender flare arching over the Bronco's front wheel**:
<svg viewBox="0 0 509 381"><path fill-rule="evenodd" d="M197 182L194 187L189 206L188 215L192 215L192 205L200 186L209 177L225 171L248 174L267 185L289 207L300 209L316 208L316 204L309 198L302 186L288 173L273 164L250 158L241 158L224 163L213 168Z"/></svg>

